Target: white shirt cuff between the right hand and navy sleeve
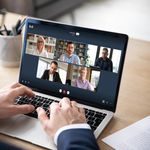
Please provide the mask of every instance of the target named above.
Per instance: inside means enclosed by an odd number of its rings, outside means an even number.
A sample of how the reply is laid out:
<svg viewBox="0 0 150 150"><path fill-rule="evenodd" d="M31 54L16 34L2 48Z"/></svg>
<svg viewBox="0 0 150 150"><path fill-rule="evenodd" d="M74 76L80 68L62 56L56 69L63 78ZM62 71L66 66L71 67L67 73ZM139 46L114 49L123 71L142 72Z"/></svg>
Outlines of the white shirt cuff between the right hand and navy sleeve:
<svg viewBox="0 0 150 150"><path fill-rule="evenodd" d="M60 133L62 133L65 130L70 130L70 129L91 129L91 127L87 123L66 125L57 130L57 132L55 133L55 136L54 136L54 143L57 145L57 139L58 139Z"/></svg>

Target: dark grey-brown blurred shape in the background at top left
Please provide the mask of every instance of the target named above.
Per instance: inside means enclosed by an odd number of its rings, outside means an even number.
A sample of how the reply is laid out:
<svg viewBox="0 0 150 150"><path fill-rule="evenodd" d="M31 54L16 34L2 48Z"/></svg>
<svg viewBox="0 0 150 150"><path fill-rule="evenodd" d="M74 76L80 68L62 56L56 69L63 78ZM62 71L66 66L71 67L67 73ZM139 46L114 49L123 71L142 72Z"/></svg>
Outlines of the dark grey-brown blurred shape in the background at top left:
<svg viewBox="0 0 150 150"><path fill-rule="evenodd" d="M43 19L56 18L71 13L87 0L0 0L0 9Z"/></svg>

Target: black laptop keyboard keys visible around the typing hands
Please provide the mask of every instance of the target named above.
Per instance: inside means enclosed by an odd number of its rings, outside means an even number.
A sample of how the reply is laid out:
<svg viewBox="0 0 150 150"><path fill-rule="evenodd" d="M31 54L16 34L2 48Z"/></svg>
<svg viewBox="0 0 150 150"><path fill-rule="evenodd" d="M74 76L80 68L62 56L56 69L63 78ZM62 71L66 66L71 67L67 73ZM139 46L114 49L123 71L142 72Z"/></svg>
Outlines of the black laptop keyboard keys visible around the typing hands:
<svg viewBox="0 0 150 150"><path fill-rule="evenodd" d="M32 98L24 96L24 97L18 97L16 99L16 104L19 104L19 105L32 104L35 108L42 107L46 111L46 114L48 117L50 116L49 105L52 102L58 102L58 101L56 101L54 99L41 97L38 95L36 95L35 97L32 97ZM31 117L34 117L34 118L38 117L36 111L34 111L28 115ZM99 124L103 121L103 119L106 117L106 114L85 108L85 116L87 119L87 123L91 126L92 130L94 131L99 126Z"/></svg>

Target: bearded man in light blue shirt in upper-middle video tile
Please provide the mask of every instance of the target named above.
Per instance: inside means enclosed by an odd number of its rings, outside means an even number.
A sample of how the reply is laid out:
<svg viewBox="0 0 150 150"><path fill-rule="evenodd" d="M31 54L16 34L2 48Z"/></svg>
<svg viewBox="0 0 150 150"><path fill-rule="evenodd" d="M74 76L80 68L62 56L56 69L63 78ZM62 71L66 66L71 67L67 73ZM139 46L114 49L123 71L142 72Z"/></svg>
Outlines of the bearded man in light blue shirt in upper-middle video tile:
<svg viewBox="0 0 150 150"><path fill-rule="evenodd" d="M67 49L66 53L62 54L60 56L60 61L64 61L67 63L73 63L73 64L80 64L80 59L79 57L74 54L74 43L73 42L68 42L67 43Z"/></svg>

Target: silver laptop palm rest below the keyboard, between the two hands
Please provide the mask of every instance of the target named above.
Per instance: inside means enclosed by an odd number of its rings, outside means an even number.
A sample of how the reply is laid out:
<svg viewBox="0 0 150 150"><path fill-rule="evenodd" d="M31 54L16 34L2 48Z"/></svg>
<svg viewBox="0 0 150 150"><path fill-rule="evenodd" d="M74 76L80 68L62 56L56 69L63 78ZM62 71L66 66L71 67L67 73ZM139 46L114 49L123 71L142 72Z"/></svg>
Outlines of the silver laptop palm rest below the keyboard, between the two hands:
<svg viewBox="0 0 150 150"><path fill-rule="evenodd" d="M38 119L18 115L0 121L0 132L30 143L56 149L53 141L46 135Z"/></svg>

